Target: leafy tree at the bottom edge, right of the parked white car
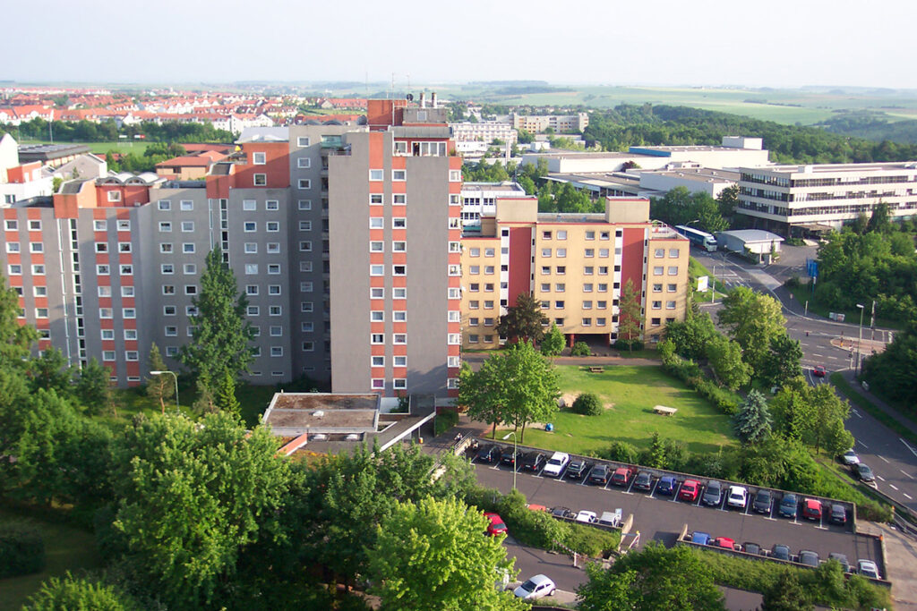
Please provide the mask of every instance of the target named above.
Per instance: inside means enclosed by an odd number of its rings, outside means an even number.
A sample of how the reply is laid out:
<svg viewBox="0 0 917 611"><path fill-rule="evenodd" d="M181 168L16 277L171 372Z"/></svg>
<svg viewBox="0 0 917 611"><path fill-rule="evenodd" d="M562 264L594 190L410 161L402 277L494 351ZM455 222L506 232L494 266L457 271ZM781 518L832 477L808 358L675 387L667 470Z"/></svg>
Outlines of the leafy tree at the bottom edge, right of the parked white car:
<svg viewBox="0 0 917 611"><path fill-rule="evenodd" d="M688 547L667 550L650 541L611 568L587 569L589 582L577 590L580 611L725 609L713 572Z"/></svg>

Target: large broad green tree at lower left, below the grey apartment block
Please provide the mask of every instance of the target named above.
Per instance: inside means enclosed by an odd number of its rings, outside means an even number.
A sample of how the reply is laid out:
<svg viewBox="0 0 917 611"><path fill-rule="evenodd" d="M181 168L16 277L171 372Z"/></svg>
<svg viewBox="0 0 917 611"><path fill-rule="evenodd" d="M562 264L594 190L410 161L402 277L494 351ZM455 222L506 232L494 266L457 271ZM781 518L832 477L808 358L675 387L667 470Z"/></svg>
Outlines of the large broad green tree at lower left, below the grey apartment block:
<svg viewBox="0 0 917 611"><path fill-rule="evenodd" d="M229 414L135 420L116 456L115 521L130 557L175 608L213 599L280 507L289 467L270 431Z"/></svg>

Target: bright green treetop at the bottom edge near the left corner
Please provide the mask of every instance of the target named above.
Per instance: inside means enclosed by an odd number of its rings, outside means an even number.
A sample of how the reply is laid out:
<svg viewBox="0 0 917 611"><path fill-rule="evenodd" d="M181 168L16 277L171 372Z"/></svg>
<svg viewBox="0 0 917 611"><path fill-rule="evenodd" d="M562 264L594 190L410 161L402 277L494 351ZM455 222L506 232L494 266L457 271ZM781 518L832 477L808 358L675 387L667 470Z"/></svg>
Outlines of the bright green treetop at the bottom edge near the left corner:
<svg viewBox="0 0 917 611"><path fill-rule="evenodd" d="M143 607L114 585L103 584L70 572L41 584L22 606L23 611L140 611Z"/></svg>

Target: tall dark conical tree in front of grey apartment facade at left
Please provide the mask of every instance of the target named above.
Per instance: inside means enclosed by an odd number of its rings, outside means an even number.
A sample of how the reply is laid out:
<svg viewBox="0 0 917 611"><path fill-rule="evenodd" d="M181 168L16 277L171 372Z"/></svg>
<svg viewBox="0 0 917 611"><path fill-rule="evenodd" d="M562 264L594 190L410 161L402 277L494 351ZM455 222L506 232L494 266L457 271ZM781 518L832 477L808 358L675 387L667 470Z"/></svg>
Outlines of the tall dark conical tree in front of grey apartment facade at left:
<svg viewBox="0 0 917 611"><path fill-rule="evenodd" d="M239 292L219 246L207 254L201 290L192 303L192 341L182 346L182 363L216 393L227 375L235 380L247 372L253 358L252 328L246 319L249 300Z"/></svg>

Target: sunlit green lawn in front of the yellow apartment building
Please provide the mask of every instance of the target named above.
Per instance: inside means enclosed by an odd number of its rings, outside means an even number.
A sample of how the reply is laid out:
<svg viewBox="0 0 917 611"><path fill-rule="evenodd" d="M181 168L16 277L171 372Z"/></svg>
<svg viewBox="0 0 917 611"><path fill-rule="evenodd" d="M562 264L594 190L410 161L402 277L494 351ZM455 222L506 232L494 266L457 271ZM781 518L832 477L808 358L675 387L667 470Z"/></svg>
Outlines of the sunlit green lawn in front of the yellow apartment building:
<svg viewBox="0 0 917 611"><path fill-rule="evenodd" d="M611 442L649 447L650 435L684 442L691 452L716 452L731 445L730 420L660 366L611 366L601 374L578 366L558 366L561 393L594 392L613 403L601 416L580 416L563 409L551 420L554 432L527 429L525 445L571 453L595 453ZM677 408L658 416L656 405Z"/></svg>

